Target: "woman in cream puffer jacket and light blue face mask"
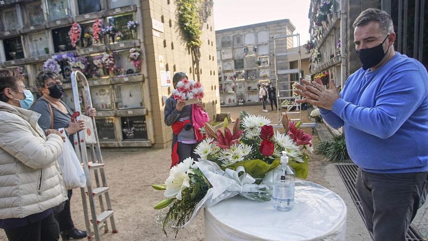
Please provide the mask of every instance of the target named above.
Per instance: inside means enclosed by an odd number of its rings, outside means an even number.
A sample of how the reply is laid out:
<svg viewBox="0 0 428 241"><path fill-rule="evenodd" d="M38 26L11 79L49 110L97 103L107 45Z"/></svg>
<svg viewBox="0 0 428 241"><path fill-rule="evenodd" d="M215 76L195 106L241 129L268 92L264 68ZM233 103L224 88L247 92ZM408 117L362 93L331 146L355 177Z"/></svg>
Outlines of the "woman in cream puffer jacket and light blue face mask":
<svg viewBox="0 0 428 241"><path fill-rule="evenodd" d="M67 200L57 158L63 139L26 110L33 95L15 70L0 69L0 228L9 241L57 241L53 208Z"/></svg>

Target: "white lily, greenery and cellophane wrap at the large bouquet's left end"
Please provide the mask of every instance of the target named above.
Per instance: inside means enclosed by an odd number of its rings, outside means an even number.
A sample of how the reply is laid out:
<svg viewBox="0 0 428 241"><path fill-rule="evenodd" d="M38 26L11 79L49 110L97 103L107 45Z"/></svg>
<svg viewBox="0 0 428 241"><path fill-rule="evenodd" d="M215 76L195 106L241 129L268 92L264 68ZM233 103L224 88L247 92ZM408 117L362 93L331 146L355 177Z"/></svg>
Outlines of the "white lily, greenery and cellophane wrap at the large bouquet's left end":
<svg viewBox="0 0 428 241"><path fill-rule="evenodd" d="M164 190L166 197L155 205L155 209L160 209L156 222L162 226L165 235L169 228L176 237L204 206L212 206L238 194L257 201L270 200L272 195L270 185L255 184L255 179L245 173L243 167L236 171L222 170L214 162L202 159L195 162L190 157L171 168L165 184L152 186ZM166 211L163 208L167 206Z"/></svg>

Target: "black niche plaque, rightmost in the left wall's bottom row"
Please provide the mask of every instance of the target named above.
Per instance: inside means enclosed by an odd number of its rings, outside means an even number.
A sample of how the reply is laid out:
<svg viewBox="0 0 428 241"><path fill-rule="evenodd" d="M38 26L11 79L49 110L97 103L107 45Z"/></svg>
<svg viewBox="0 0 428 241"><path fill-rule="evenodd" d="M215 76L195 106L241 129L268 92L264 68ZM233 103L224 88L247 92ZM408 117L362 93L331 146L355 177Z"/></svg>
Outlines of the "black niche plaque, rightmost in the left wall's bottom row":
<svg viewBox="0 0 428 241"><path fill-rule="evenodd" d="M145 116L121 117L124 140L147 140L147 126Z"/></svg>

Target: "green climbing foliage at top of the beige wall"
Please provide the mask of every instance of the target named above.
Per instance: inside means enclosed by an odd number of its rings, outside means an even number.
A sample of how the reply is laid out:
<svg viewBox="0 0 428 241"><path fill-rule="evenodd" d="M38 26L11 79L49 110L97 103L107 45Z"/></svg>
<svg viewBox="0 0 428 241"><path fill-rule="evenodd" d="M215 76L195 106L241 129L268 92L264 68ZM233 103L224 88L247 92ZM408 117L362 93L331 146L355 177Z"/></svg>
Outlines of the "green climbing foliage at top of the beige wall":
<svg viewBox="0 0 428 241"><path fill-rule="evenodd" d="M202 44L202 21L199 19L200 0L178 0L178 22L191 48L199 48Z"/></svg>

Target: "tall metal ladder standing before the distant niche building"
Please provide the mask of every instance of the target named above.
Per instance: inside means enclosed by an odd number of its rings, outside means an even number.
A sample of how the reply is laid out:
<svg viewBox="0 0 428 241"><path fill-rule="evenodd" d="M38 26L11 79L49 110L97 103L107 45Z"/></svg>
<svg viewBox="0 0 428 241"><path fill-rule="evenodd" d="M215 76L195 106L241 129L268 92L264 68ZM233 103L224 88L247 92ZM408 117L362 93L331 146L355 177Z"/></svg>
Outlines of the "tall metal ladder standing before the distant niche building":
<svg viewBox="0 0 428 241"><path fill-rule="evenodd" d="M298 46L298 51L295 52L283 52L283 53L276 53L276 40L277 39L287 39L289 37L297 37L297 46ZM275 127L282 127L282 120L283 120L283 116L285 114L299 114L299 118L295 118L295 119L291 119L291 121L301 121L302 120L302 105L298 104L295 102L295 100L297 99L301 99L300 96L293 96L293 92L294 90L291 88L292 84L294 83L299 83L302 84L302 63L301 63L301 52L300 52L300 34L291 34L291 35L284 35L284 36L273 36L273 59L274 59L274 68L275 68L275 79L276 79L276 90L277 90L277 103L278 105L282 106L281 103L279 101L281 100L294 100L293 103L291 105L287 105L287 110L285 112L278 110L277 114L278 114L278 125L274 125ZM286 41L285 41L286 44ZM298 63L298 68L297 69L286 69L286 70L278 70L278 66L277 66L277 57L278 56L288 56L288 55L295 55L298 54L298 58L297 58L297 63ZM282 81L282 82L278 82L279 78L278 75L279 74L288 74L288 81ZM298 80L290 80L291 76L289 74L298 74ZM280 90L278 87L278 84L286 84L287 88L285 90ZM280 93L286 93L284 97L280 97L279 94ZM291 109L295 108L295 111L291 111ZM281 112L281 115L280 115ZM316 123L303 123L301 125L301 127L315 127Z"/></svg>

